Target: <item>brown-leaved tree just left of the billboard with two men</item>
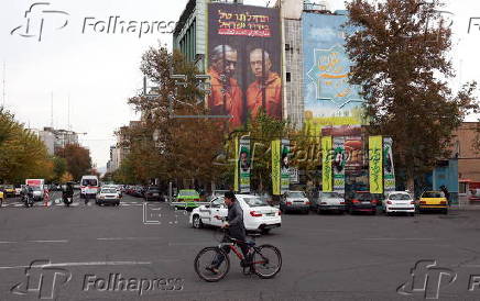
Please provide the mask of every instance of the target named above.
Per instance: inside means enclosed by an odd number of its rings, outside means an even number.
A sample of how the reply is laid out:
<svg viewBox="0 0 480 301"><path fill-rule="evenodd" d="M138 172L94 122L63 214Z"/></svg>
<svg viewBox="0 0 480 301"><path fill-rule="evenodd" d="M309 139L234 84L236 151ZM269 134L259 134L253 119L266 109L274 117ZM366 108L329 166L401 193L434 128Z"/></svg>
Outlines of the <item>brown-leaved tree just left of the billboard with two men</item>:
<svg viewBox="0 0 480 301"><path fill-rule="evenodd" d="M130 161L124 168L142 182L151 178L196 179L204 185L214 180L220 172L212 160L222 147L222 122L173 116L208 115L204 103L198 102L204 92L197 87L195 65L179 52L160 47L143 55L141 70L160 89L154 90L156 97L139 94L129 100L143 118L137 126L118 133L127 137L123 146L130 148ZM185 75L186 86L175 85L173 74Z"/></svg>

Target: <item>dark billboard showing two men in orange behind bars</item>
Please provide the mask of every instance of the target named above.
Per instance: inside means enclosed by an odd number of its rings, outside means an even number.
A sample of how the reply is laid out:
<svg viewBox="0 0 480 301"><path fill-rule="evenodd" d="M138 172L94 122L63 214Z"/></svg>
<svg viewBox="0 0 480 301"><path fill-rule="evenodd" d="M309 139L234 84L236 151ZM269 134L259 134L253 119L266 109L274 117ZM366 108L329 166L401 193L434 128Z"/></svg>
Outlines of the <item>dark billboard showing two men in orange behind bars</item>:
<svg viewBox="0 0 480 301"><path fill-rule="evenodd" d="M280 10L208 4L208 71L212 115L230 115L234 129L261 108L282 119Z"/></svg>

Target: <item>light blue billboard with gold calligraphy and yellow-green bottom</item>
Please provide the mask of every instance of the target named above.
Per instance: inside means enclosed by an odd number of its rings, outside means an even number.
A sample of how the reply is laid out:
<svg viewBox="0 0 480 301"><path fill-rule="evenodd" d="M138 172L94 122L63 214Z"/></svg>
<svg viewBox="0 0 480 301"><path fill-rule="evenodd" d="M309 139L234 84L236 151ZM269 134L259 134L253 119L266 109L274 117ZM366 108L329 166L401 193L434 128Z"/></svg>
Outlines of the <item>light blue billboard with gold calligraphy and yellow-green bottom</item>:
<svg viewBox="0 0 480 301"><path fill-rule="evenodd" d="M363 124L360 88L348 83L346 15L303 13L305 123L312 134L326 125Z"/></svg>

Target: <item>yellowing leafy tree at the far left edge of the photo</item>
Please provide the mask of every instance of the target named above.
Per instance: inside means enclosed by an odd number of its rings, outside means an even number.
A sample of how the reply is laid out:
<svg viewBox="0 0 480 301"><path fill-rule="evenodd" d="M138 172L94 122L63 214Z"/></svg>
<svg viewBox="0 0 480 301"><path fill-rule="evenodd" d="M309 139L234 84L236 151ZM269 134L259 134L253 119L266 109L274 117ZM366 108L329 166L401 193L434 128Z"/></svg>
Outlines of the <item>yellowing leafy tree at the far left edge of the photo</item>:
<svg viewBox="0 0 480 301"><path fill-rule="evenodd" d="M0 108L0 180L10 183L53 176L53 163L43 142L3 108Z"/></svg>

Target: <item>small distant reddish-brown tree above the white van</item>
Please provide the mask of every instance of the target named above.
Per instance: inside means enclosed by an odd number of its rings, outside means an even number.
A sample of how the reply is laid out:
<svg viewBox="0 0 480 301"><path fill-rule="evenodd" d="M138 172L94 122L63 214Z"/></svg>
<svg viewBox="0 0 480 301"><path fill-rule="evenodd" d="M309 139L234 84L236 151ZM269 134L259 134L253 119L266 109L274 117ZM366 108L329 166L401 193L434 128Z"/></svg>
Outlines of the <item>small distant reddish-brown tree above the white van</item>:
<svg viewBox="0 0 480 301"><path fill-rule="evenodd" d="M91 169L90 150L79 144L67 144L56 152L56 156L67 161L67 171L74 180L79 181L81 176L89 175Z"/></svg>

